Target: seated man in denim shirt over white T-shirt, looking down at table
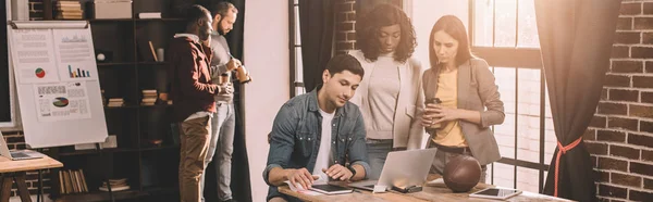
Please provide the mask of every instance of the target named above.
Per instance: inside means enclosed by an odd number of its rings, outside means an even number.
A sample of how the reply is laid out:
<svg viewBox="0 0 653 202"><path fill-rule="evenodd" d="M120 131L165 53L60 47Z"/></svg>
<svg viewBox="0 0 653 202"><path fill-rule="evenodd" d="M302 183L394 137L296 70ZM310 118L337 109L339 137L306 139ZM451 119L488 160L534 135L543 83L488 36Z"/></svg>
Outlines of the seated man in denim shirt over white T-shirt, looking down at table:
<svg viewBox="0 0 653 202"><path fill-rule="evenodd" d="M285 180L304 189L328 180L361 180L370 171L365 125L358 106L348 100L362 79L360 63L336 55L322 74L323 85L287 101L276 114L263 179L268 201L298 201L281 194ZM312 175L321 176L316 181Z"/></svg>

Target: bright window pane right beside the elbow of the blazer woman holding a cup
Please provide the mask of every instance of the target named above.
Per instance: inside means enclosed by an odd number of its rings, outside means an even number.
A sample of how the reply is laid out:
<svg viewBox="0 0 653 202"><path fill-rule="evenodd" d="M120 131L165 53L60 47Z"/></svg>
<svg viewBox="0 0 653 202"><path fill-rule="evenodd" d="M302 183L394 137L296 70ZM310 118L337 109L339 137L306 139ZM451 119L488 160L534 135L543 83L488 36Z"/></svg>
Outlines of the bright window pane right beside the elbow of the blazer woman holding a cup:
<svg viewBox="0 0 653 202"><path fill-rule="evenodd" d="M502 156L515 157L515 79L516 68L495 67L494 77L504 102L505 119L494 126L494 137Z"/></svg>

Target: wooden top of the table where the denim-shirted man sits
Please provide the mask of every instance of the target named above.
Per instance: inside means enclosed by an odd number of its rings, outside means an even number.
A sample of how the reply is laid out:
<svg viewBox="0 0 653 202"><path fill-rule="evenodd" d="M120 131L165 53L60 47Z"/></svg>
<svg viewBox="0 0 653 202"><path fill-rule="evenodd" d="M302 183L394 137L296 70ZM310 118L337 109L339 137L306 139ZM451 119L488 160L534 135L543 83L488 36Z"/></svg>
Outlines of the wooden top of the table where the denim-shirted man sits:
<svg viewBox="0 0 653 202"><path fill-rule="evenodd" d="M396 191L390 191L385 193L372 193L366 190L358 190L359 192L353 192L348 194L335 194L335 195L307 195L299 192L292 191L287 186L279 187L279 191L296 197L303 201L315 201L315 202L337 202L337 201L366 201L366 202L430 202L430 201L496 201L490 199L469 198L469 193L493 187L491 185L479 184L472 190L463 193L454 193L446 187L441 186L426 186L423 190L415 193L399 193ZM513 202L526 202L526 201L568 201L565 199L554 198L550 195L533 193L523 191L521 194L509 198L506 201Z"/></svg>

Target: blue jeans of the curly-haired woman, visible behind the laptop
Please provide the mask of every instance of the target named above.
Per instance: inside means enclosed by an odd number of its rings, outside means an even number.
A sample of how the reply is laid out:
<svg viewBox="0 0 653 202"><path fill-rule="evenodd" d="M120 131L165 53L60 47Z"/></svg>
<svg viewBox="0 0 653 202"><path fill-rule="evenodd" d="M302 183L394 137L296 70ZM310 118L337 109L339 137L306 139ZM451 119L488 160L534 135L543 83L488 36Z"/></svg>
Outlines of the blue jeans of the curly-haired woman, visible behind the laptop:
<svg viewBox="0 0 653 202"><path fill-rule="evenodd" d="M385 164L387 153L392 151L392 139L368 139L366 144L371 168L371 172L368 174L368 179L379 179L379 177L381 177L381 171L383 171L383 165Z"/></svg>

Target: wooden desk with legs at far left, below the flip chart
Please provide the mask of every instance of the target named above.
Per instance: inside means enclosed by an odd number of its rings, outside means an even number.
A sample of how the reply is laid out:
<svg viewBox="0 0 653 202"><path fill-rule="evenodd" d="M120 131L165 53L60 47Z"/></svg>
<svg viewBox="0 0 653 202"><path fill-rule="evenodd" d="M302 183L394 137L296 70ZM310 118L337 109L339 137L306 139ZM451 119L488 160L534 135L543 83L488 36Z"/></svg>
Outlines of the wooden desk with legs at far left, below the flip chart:
<svg viewBox="0 0 653 202"><path fill-rule="evenodd" d="M11 161L4 156L0 156L0 174L2 174L2 178L0 178L0 202L9 202L11 186L14 180L19 187L21 200L23 202L32 202L29 191L27 190L27 184L25 182L26 173L29 171L54 167L63 167L63 164L47 155L41 159L21 161Z"/></svg>

